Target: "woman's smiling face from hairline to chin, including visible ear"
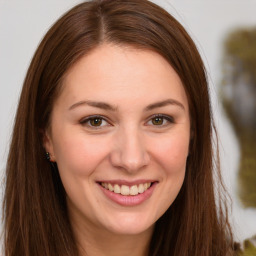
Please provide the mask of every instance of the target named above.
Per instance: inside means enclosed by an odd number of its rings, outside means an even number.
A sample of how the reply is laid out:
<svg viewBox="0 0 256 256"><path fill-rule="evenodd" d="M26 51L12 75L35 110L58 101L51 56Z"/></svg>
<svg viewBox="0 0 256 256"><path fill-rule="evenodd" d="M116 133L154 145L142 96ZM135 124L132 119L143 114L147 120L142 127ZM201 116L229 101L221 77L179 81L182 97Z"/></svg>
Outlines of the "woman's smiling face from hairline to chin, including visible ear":
<svg viewBox="0 0 256 256"><path fill-rule="evenodd" d="M187 97L168 62L103 44L68 71L44 145L74 225L139 234L179 193L189 141Z"/></svg>

